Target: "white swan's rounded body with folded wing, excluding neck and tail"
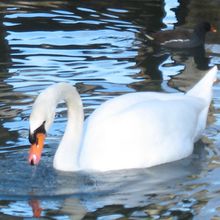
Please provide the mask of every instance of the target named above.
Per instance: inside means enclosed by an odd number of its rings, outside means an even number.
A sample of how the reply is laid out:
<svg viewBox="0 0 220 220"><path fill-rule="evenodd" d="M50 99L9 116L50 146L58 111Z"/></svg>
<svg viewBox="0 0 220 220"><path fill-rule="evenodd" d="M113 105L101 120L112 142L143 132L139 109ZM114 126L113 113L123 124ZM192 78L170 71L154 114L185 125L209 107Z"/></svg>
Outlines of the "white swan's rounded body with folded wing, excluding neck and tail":
<svg viewBox="0 0 220 220"><path fill-rule="evenodd" d="M182 94L146 94L145 99L138 93L130 94L130 99L121 96L91 115L80 167L103 171L150 167L192 153L204 102Z"/></svg>

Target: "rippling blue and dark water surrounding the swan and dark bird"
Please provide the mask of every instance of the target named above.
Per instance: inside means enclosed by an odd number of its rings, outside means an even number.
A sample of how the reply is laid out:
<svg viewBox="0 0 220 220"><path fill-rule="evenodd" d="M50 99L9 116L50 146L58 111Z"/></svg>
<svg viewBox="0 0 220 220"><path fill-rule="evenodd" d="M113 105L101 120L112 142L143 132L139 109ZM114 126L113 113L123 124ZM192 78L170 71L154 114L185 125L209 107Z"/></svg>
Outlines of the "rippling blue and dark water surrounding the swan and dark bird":
<svg viewBox="0 0 220 220"><path fill-rule="evenodd" d="M206 51L146 43L143 33L192 26L204 11L216 23L215 7L207 12L207 3L184 2L1 1L1 219L220 218L219 84L205 134L189 158L150 169L56 171L52 158L66 123L61 104L41 164L27 164L31 106L48 85L76 85L88 116L120 94L185 91L202 70L219 65L218 33L207 36Z"/></svg>

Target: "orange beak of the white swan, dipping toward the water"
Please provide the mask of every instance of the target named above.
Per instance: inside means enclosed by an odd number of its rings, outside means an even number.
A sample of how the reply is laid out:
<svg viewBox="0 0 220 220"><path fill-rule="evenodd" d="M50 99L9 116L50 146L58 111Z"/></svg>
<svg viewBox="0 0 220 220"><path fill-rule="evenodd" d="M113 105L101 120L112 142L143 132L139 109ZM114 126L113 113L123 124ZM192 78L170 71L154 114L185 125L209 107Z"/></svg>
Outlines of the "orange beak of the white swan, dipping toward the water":
<svg viewBox="0 0 220 220"><path fill-rule="evenodd" d="M37 165L40 162L41 153L42 153L43 146L44 146L45 136L46 135L43 133L36 134L37 141L36 141L36 143L33 143L31 145L31 148L29 151L28 162L31 165Z"/></svg>

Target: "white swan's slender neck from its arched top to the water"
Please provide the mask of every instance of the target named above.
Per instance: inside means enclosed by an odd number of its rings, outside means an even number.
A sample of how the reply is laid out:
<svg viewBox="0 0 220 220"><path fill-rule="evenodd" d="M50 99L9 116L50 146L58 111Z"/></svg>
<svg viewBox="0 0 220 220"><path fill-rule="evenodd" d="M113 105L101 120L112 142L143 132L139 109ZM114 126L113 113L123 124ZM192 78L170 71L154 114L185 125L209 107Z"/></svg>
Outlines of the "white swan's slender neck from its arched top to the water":
<svg viewBox="0 0 220 220"><path fill-rule="evenodd" d="M63 138L54 156L53 166L58 170L77 171L78 155L83 131L83 107L81 98L74 87L64 89L59 94L67 104L68 121ZM57 100L57 103L60 100Z"/></svg>

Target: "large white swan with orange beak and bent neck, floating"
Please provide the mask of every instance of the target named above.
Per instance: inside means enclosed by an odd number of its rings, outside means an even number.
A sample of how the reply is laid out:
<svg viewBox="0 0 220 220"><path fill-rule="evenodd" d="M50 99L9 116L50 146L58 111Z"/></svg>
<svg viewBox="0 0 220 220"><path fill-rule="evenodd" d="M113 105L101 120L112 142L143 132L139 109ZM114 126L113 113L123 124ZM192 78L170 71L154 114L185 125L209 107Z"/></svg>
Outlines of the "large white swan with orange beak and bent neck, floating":
<svg viewBox="0 0 220 220"><path fill-rule="evenodd" d="M61 100L67 104L68 121L54 157L58 170L142 168L187 157L206 126L216 75L213 67L186 94L121 95L100 105L85 123L76 88L67 83L52 85L33 105L29 162L39 163L45 134Z"/></svg>

